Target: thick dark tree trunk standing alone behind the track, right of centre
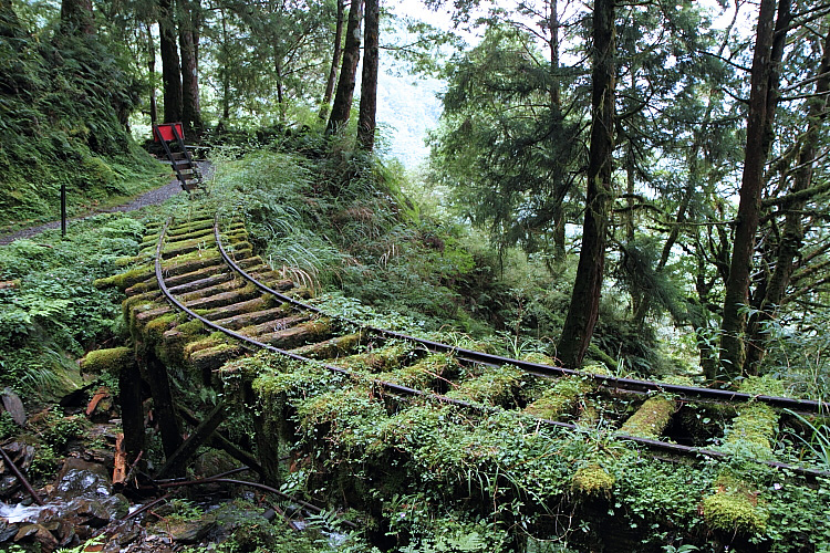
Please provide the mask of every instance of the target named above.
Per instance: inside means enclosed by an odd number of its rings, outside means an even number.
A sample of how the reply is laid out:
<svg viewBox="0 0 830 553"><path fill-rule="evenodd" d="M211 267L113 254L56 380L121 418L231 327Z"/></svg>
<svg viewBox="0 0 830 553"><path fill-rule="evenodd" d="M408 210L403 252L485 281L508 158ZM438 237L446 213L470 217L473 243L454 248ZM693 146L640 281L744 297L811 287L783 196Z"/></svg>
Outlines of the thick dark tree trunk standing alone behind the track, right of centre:
<svg viewBox="0 0 830 553"><path fill-rule="evenodd" d="M557 347L559 361L572 368L582 364L593 335L605 265L614 152L614 0L594 1L593 36L591 147L582 249L571 304Z"/></svg>

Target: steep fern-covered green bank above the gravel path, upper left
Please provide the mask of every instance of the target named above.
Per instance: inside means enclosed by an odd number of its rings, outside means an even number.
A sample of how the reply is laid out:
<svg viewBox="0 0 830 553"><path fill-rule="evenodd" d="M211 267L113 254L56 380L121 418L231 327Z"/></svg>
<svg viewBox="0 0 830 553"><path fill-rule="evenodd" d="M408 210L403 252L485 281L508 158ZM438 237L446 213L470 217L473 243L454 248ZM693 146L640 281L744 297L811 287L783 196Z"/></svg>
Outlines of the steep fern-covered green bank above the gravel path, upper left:
<svg viewBox="0 0 830 553"><path fill-rule="evenodd" d="M61 185L75 216L167 180L124 124L142 88L123 46L17 24L0 41L0 231L58 219Z"/></svg>

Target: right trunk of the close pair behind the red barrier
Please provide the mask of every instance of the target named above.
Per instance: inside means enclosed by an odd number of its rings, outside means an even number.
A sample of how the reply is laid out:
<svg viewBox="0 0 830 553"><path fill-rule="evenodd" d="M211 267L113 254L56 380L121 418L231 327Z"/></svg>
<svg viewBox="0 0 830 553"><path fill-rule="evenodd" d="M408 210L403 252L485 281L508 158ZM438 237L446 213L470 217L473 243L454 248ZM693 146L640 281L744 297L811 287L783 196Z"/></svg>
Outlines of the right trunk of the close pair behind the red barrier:
<svg viewBox="0 0 830 553"><path fill-rule="evenodd" d="M199 105L199 0L179 0L181 19L178 43L181 50L181 123L185 133L200 135L204 129Z"/></svg>

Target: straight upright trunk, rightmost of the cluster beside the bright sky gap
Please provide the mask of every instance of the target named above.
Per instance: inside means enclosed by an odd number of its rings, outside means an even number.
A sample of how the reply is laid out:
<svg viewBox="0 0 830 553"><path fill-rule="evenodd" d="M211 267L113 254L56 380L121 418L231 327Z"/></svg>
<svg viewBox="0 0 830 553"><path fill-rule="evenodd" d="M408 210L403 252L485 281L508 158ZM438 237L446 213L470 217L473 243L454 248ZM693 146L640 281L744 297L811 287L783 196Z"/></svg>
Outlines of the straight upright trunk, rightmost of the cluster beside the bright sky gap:
<svg viewBox="0 0 830 553"><path fill-rule="evenodd" d="M366 0L361 107L357 115L357 146L371 153L375 146L377 113L377 69L380 64L381 0Z"/></svg>

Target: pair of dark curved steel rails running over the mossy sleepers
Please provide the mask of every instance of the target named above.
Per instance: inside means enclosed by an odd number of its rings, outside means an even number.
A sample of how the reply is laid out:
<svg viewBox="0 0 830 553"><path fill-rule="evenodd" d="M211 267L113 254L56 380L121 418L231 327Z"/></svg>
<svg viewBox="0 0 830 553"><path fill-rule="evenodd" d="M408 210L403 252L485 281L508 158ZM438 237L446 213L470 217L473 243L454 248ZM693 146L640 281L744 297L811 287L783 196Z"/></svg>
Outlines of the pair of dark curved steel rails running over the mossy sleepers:
<svg viewBox="0 0 830 553"><path fill-rule="evenodd" d="M291 353L287 349L276 347L271 344L257 341L250 336L246 336L243 334L235 332L234 330L216 324L215 322L196 313L195 311L190 310L187 305L185 305L183 302L180 302L178 299L176 299L176 296L169 291L164 279L164 274L163 274L164 271L162 268L162 253L163 253L164 243L165 243L165 236L167 233L167 230L172 221L173 221L173 218L169 218L166 221L164 228L159 232L158 242L156 244L156 252L155 252L156 281L157 281L157 284L162 294L173 306L186 313L189 317L200 321L206 327L220 332L249 346L253 346L253 348L266 349L266 351L279 354L281 356L284 356L289 359L293 359L293 361L301 362L301 363L309 363L309 364L319 366L321 368L325 368L326 371L330 371L332 373L341 374L341 375L354 378L357 382L371 383L373 386L382 388L392 394L398 394L403 396L423 397L425 399L434 400L434 401L446 404L446 405L454 405L464 409L469 409L469 410L474 410L474 411L478 411L483 414L502 413L505 410L501 407L497 407L497 406L486 406L486 405L474 404L470 401L465 401L461 399L456 399L456 398L447 397L440 394L425 392L422 389L412 388L408 386L403 386L401 384L395 384L395 383L391 383L391 382L386 382L386 380L382 380L377 378L366 378L346 368L331 365L329 363L324 363L318 359L312 359L310 357L305 357L303 355L299 355L295 353ZM214 221L214 233L216 237L216 244L219 249L219 252L224 262L234 272L242 276L246 281L257 286L261 292L272 294L279 300L283 302L288 302L298 309L302 309L302 310L305 310L315 314L326 314L323 310L319 307L309 305L304 302L298 301L293 298L282 294L278 292L277 290L273 290L267 284L255 279L251 274L249 274L241 267L239 267L239 264L236 263L231 259L231 257L228 254L227 250L225 249L222 244L221 236L219 232L218 213L215 217L215 221ZM798 399L774 397L774 396L750 396L748 394L732 393L732 392L726 392L726 390L714 390L709 388L695 388L695 387L688 387L688 386L663 385L658 383L652 383L649 380L636 380L636 379L631 379L631 378L610 377L606 375L584 374L584 373L580 373L577 371L566 369L562 367L552 367L548 365L528 363L528 362L522 362L519 359L511 359L508 357L501 357L497 355L474 352L471 349L465 349L465 348L460 348L456 346L450 346L447 344L442 344L438 342L418 338L415 336L408 336L406 334L402 334L402 333L397 333L393 331L386 331L383 328L372 327L372 326L364 325L355 321L347 320L345 317L335 317L335 319L339 319L340 321L346 322L349 324L357 325L362 330L369 331L370 333L376 333L383 336L421 344L430 352L455 354L463 359L473 361L473 362L481 363L486 365L499 365L500 366L500 365L509 364L509 365L517 366L519 368L523 368L528 371L529 373L536 374L539 376L553 377L553 376L563 376L563 375L577 375L577 376L582 376L582 377L591 377L595 382L604 386L618 387L618 388L626 389L626 390L665 392L665 393L677 394L679 396L684 396L685 394L685 397L703 397L703 398L708 398L708 399L716 399L718 403L747 401L747 400L755 398L756 400L765 401L777 407L799 406L800 410L806 410L805 407L815 407L816 409L818 409L819 407L819 403L817 401L798 400ZM709 393L714 393L714 394L709 394ZM542 419L538 417L533 417L533 418L538 422L543 424L546 426L550 426L554 428L562 428L562 429L571 430L571 431L582 430L581 427L574 424L561 422L558 420L550 420L550 419ZM730 457L729 453L726 453L724 451L717 451L717 450L707 449L703 447L696 447L696 446L684 446L679 444L642 438L637 436L630 436L630 435L625 435L622 432L616 432L613 435L613 437L616 440L630 441L632 444L635 444L637 446L644 447L650 450L663 451L663 452L672 453L672 455L679 456L679 457L697 457L697 458L712 458L712 459L727 459ZM801 474L801 476L809 477L809 478L830 477L830 472L826 472L826 471L818 470L818 469L806 468L806 467L799 467L799 466L789 465L789 463L779 462L779 461L755 459L755 462L758 462L759 465L765 465L775 469L788 470L793 473Z"/></svg>

